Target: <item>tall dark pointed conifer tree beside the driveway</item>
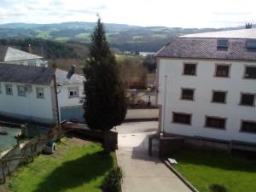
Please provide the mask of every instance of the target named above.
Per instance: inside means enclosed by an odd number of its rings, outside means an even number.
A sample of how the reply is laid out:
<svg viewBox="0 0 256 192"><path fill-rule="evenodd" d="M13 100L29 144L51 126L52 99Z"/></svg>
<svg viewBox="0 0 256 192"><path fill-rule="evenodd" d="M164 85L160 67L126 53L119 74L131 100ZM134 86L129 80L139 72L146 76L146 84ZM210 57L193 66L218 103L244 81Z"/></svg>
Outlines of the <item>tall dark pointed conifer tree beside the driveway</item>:
<svg viewBox="0 0 256 192"><path fill-rule="evenodd" d="M84 119L90 129L104 131L105 136L113 126L120 125L125 119L126 101L119 67L109 49L99 16L89 49L84 67ZM105 149L107 147L104 146Z"/></svg>

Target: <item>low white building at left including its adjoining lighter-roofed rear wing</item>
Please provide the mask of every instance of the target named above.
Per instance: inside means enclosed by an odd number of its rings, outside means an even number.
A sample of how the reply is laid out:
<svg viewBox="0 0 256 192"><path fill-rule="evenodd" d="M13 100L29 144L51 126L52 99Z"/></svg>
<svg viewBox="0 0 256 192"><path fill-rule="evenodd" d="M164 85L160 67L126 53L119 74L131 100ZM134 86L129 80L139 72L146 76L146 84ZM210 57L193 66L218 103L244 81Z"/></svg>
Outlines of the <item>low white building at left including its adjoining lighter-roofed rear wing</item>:
<svg viewBox="0 0 256 192"><path fill-rule="evenodd" d="M42 124L84 121L83 76L49 67L0 64L0 116Z"/></svg>

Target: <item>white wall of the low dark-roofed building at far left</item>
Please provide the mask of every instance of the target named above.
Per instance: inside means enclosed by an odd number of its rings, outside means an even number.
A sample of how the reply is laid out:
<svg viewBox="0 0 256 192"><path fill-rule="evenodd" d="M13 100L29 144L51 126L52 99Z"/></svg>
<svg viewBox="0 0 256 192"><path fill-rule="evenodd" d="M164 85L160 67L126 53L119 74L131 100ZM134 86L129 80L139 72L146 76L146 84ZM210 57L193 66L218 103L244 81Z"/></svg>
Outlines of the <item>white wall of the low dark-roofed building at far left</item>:
<svg viewBox="0 0 256 192"><path fill-rule="evenodd" d="M26 92L26 96L18 96L17 85L0 82L0 113L6 116L20 118L20 119L32 119L41 123L54 123L54 102L53 99L53 86L44 85L32 85L32 91ZM12 84L13 95L6 95L5 84ZM36 87L44 88L44 99L37 98Z"/></svg>

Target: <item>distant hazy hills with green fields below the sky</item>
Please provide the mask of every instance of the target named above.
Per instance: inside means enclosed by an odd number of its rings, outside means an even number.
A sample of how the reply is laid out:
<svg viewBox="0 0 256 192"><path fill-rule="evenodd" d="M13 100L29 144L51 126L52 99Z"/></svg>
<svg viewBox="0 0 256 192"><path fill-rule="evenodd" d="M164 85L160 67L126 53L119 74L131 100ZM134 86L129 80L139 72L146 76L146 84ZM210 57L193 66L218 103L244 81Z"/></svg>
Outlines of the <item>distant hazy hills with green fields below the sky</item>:
<svg viewBox="0 0 256 192"><path fill-rule="evenodd" d="M9 23L0 25L0 38L43 38L58 42L90 43L90 33L94 22L65 22L58 24ZM147 51L159 50L172 38L182 34L197 32L216 32L233 28L179 28L166 26L129 26L106 23L107 37L116 50ZM82 46L82 45L81 45Z"/></svg>

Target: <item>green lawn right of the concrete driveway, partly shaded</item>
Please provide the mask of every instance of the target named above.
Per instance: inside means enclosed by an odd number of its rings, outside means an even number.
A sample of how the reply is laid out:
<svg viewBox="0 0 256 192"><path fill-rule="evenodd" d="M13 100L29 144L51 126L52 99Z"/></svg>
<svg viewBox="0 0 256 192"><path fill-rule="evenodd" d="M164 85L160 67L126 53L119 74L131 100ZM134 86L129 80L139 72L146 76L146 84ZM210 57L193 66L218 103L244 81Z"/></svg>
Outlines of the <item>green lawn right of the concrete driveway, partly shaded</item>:
<svg viewBox="0 0 256 192"><path fill-rule="evenodd" d="M200 192L210 192L212 184L228 192L256 191L256 161L231 157L229 154L181 151L173 155L174 166Z"/></svg>

